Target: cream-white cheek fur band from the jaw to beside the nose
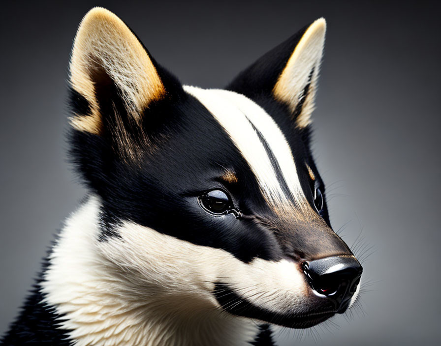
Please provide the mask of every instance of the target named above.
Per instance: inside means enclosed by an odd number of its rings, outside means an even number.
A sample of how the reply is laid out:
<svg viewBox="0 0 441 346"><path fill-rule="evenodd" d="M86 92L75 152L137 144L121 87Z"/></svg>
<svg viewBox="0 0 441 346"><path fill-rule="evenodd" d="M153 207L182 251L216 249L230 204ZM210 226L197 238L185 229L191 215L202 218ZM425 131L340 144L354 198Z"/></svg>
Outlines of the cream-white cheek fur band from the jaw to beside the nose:
<svg viewBox="0 0 441 346"><path fill-rule="evenodd" d="M308 286L297 263L289 259L254 259L244 263L230 253L125 222L121 239L99 244L104 256L126 276L127 289L149 295L157 291L193 296L219 306L215 283L228 284L243 298L270 311L305 308Z"/></svg>

